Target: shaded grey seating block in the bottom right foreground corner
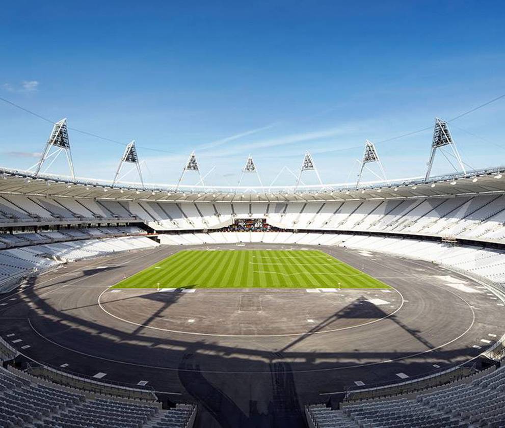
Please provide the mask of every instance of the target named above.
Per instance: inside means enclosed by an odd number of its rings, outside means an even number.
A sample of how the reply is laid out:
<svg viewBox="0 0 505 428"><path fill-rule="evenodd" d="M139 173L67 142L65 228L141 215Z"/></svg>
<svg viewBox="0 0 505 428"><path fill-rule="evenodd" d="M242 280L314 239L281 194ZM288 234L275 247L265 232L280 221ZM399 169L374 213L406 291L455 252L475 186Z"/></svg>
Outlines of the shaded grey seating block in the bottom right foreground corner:
<svg viewBox="0 0 505 428"><path fill-rule="evenodd" d="M416 398L364 400L332 410L308 406L311 427L363 428L503 426L505 421L505 367L467 384L450 386Z"/></svg>

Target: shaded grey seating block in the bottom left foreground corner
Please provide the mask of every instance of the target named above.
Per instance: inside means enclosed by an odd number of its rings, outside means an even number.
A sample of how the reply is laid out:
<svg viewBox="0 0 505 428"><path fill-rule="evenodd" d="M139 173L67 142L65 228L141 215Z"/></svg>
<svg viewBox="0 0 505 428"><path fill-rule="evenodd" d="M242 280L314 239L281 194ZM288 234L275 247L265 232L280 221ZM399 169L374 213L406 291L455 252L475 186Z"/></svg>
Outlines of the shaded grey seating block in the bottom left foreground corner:
<svg viewBox="0 0 505 428"><path fill-rule="evenodd" d="M39 381L18 370L0 368L0 425L5 428L191 428L196 409L115 400ZM14 372L16 373L14 373Z"/></svg>

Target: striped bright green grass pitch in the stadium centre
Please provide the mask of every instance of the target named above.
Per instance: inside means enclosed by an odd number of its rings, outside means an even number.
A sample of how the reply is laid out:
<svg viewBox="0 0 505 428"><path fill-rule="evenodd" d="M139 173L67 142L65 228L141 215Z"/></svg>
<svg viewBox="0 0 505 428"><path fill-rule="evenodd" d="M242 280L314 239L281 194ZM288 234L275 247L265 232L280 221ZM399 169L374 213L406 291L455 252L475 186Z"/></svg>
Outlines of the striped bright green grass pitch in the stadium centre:
<svg viewBox="0 0 505 428"><path fill-rule="evenodd" d="M158 285L159 284L159 285ZM113 288L389 288L317 250L184 250Z"/></svg>

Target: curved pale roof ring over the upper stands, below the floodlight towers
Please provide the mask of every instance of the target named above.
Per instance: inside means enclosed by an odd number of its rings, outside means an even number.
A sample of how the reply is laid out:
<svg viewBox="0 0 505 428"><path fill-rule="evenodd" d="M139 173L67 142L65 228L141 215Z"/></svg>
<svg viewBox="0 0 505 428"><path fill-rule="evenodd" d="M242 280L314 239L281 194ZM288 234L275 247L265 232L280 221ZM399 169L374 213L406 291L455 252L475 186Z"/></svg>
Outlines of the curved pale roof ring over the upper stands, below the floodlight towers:
<svg viewBox="0 0 505 428"><path fill-rule="evenodd" d="M355 183L293 186L209 186L116 183L89 178L0 168L0 193L112 200L170 202L307 202L362 199L437 198L504 193L505 167L457 174ZM503 177L502 177L503 174Z"/></svg>

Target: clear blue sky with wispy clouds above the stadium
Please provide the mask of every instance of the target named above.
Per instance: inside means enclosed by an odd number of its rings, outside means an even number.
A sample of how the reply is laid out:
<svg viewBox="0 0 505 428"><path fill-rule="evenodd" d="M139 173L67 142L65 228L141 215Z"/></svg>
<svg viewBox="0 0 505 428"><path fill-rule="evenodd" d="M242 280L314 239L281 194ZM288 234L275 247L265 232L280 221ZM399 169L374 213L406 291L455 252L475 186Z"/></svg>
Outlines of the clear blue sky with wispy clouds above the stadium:
<svg viewBox="0 0 505 428"><path fill-rule="evenodd" d="M381 141L505 94L503 3L349 3L8 2L0 97L135 139L150 182L176 181L193 149L203 173L216 167L210 184L236 184L249 153L269 184L283 166L296 172L305 150L323 181L344 182L365 139L388 178L422 175L430 130ZM472 167L505 164L504 113L501 99L451 122ZM24 169L51 125L0 102L0 129L1 164ZM78 176L112 179L120 144L70 138ZM450 170L440 157L434 173Z"/></svg>

